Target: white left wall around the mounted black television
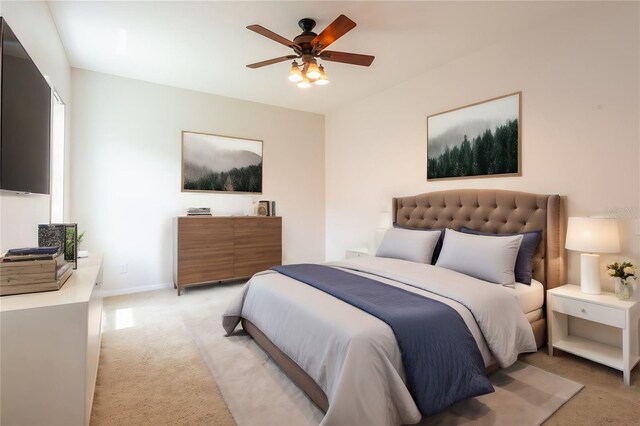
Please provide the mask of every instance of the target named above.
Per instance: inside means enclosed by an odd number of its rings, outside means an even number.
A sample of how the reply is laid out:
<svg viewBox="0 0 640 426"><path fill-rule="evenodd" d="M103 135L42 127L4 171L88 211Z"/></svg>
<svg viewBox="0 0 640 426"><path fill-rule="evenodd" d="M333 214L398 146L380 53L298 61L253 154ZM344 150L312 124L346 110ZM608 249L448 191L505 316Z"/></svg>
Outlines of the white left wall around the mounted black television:
<svg viewBox="0 0 640 426"><path fill-rule="evenodd" d="M2 1L2 17L22 43L40 72L49 78L69 107L71 68L58 30L45 2ZM68 116L67 116L68 117ZM69 119L66 120L69 129ZM65 144L69 146L69 132ZM69 151L66 150L68 158ZM65 186L68 197L68 169ZM68 198L65 203L68 206ZM65 216L68 218L68 214ZM38 224L49 223L48 195L16 195L0 191L0 251L38 245Z"/></svg>

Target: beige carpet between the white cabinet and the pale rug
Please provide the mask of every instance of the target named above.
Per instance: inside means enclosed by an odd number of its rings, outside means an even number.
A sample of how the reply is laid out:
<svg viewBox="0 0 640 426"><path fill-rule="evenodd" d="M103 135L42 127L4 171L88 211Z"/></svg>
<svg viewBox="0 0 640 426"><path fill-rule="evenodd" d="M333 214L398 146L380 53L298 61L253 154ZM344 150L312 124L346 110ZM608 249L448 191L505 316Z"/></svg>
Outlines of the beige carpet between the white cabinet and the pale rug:
<svg viewBox="0 0 640 426"><path fill-rule="evenodd" d="M91 425L235 425L182 320L211 307L169 290L105 299Z"/></svg>

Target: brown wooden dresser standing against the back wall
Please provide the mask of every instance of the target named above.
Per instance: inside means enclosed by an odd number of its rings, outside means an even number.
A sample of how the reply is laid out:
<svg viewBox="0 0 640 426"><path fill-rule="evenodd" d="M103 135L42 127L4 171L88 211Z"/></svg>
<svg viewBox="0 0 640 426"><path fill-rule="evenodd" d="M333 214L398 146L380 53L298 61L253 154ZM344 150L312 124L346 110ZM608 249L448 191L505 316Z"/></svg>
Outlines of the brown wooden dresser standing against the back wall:
<svg viewBox="0 0 640 426"><path fill-rule="evenodd" d="M250 277L282 263L282 218L181 216L174 223L173 284L183 287Z"/></svg>

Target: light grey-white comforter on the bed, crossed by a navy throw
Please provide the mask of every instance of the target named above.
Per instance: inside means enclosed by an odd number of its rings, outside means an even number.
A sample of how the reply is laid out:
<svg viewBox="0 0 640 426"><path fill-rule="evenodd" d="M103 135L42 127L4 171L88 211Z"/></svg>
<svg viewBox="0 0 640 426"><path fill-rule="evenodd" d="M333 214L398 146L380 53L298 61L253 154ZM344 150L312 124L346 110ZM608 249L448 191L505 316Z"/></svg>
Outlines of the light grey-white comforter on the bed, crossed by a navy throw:
<svg viewBox="0 0 640 426"><path fill-rule="evenodd" d="M511 365L536 350L531 326L510 289L436 266L378 257L331 263L439 300L473 334L485 365ZM381 320L306 284L267 271L254 276L223 315L254 323L324 390L322 425L397 425L421 419L405 386L400 350ZM416 327L421 326L416 324Z"/></svg>

